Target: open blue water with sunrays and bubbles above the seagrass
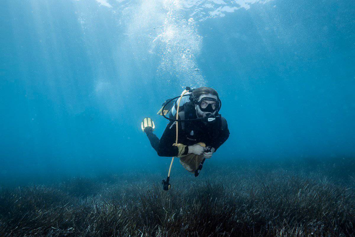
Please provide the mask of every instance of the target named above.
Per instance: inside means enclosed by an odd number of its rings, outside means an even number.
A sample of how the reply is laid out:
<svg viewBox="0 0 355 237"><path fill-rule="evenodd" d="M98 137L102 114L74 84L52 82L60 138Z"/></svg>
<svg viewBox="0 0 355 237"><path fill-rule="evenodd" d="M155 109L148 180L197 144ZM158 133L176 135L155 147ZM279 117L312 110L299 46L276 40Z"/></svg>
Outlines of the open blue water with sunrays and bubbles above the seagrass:
<svg viewBox="0 0 355 237"><path fill-rule="evenodd" d="M1 5L0 179L165 173L140 122L160 137L156 113L184 86L223 102L230 138L211 166L355 155L352 0Z"/></svg>

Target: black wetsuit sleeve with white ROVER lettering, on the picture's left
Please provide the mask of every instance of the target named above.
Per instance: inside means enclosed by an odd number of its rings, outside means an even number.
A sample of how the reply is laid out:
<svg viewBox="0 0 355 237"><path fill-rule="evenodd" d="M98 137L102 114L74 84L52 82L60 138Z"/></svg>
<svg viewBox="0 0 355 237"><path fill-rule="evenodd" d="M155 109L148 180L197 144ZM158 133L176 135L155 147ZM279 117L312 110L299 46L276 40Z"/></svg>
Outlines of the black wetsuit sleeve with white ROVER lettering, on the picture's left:
<svg viewBox="0 0 355 237"><path fill-rule="evenodd" d="M178 133L183 134L181 129L181 123L178 126ZM179 149L177 146L173 146L176 139L176 123L171 121L165 128L165 131L160 138L159 147L158 147L158 156L178 156ZM186 147L184 155L189 151Z"/></svg>

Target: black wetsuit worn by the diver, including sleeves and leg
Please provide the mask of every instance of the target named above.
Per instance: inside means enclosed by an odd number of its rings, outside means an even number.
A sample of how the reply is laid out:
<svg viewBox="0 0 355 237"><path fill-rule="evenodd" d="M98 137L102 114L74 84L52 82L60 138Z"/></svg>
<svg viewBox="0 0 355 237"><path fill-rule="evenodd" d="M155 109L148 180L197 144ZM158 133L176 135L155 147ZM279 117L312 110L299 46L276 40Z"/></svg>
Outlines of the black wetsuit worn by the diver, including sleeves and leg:
<svg viewBox="0 0 355 237"><path fill-rule="evenodd" d="M197 118L196 110L191 102L185 103L179 112L179 119ZM178 122L178 143L186 146L203 142L217 151L229 137L227 121L223 117L216 118L214 123L204 124L201 120ZM173 146L176 139L176 122L170 121L162 138L159 140L152 129L146 129L146 134L158 156L177 156L178 147ZM188 147L185 153L189 153Z"/></svg>

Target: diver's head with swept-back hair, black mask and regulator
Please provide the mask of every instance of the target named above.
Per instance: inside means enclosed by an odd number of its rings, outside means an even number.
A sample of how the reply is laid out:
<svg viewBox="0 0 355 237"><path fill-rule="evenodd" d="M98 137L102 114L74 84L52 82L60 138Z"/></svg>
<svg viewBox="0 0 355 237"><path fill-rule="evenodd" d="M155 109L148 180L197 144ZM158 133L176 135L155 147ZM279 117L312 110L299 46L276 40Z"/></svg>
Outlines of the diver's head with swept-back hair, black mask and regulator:
<svg viewBox="0 0 355 237"><path fill-rule="evenodd" d="M192 102L195 104L196 115L204 118L209 115L217 115L220 108L218 93L211 87L199 87L192 92ZM190 99L191 100L191 99Z"/></svg>

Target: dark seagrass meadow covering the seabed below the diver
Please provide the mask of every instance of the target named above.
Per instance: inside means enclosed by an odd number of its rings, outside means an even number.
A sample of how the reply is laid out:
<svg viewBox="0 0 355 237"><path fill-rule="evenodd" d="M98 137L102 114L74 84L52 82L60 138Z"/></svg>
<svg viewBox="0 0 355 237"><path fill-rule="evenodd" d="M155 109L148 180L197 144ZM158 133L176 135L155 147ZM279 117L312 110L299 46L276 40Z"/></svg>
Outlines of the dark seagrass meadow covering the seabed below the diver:
<svg viewBox="0 0 355 237"><path fill-rule="evenodd" d="M175 175L168 192L136 172L2 187L0 236L355 236L353 168L240 161Z"/></svg>

